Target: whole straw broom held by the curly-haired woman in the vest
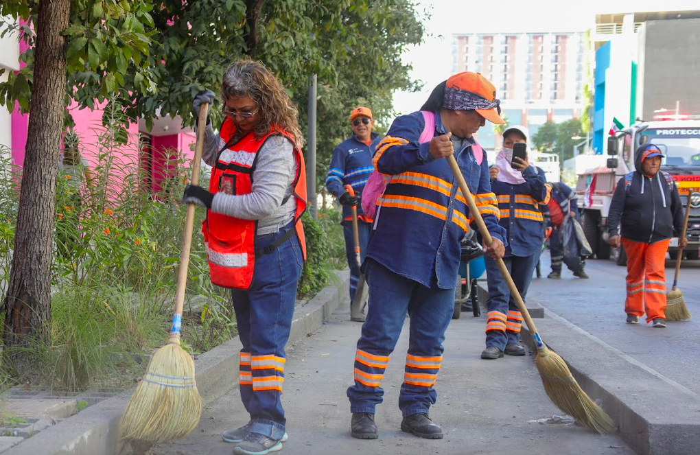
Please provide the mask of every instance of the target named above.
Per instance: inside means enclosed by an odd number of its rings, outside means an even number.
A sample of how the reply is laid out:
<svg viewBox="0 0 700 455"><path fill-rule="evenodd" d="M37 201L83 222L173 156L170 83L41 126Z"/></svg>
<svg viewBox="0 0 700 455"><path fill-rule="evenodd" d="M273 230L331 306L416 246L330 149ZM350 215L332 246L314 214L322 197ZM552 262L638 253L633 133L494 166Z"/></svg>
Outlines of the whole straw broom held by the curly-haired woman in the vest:
<svg viewBox="0 0 700 455"><path fill-rule="evenodd" d="M200 107L192 184L200 182L208 103ZM195 204L188 204L185 235L180 255L175 314L168 344L155 351L146 374L132 395L120 422L120 437L161 444L186 436L202 416L202 398L195 384L195 360L180 346L180 326L185 303L187 269L195 223Z"/></svg>

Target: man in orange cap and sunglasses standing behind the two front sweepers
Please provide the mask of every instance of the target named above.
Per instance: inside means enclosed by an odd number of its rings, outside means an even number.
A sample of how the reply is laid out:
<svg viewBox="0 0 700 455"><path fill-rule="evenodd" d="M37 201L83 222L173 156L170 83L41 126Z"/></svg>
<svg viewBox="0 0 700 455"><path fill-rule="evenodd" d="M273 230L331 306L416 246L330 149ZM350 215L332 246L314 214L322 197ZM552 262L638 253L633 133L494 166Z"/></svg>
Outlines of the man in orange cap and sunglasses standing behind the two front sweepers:
<svg viewBox="0 0 700 455"><path fill-rule="evenodd" d="M360 279L360 266L355 257L355 241L352 228L352 207L357 207L358 228L360 234L360 257L364 260L367 241L370 237L372 219L365 215L360 200L367 179L374 171L372 155L374 147L372 141L378 137L372 132L374 118L372 111L364 106L359 106L350 113L350 126L353 136L339 144L333 151L330 160L328 177L325 179L325 188L338 198L342 204L342 225L345 237L345 252L350 267L350 302L355 298L355 290ZM374 144L376 145L376 144ZM353 188L355 195L351 196L345 190L346 185ZM363 321L363 317L356 318Z"/></svg>

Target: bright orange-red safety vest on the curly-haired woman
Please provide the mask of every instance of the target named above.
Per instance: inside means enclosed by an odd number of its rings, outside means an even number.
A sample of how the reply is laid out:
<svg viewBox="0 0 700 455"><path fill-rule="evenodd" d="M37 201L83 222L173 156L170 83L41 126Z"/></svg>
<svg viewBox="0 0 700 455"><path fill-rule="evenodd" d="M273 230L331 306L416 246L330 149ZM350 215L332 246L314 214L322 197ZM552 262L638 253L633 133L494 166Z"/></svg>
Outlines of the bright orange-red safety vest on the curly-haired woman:
<svg viewBox="0 0 700 455"><path fill-rule="evenodd" d="M214 165L214 169L211 169L209 192L212 194L220 191L230 195L251 193L255 157L262 144L265 144L268 137L274 135L282 135L290 141L294 141L287 132L275 129L260 139L256 138L253 132L250 132L235 144L229 144L235 132L235 124L230 118L227 118L221 126L221 139L225 141L226 145L219 151L216 165ZM296 232L304 260L306 260L306 239L301 221L302 214L307 207L306 167L302 151L295 148L294 153L299 164L292 192L292 195L297 198L297 210L294 217L295 230L290 231L290 235ZM286 200L282 203L284 202ZM250 288L255 273L255 256L272 253L274 248L278 246L278 244L273 244L258 250L255 245L257 230L258 221L244 220L217 214L211 209L207 210L207 218L202 223L202 233L207 245L212 283L226 288ZM286 241L288 237L285 237L280 237L278 241Z"/></svg>

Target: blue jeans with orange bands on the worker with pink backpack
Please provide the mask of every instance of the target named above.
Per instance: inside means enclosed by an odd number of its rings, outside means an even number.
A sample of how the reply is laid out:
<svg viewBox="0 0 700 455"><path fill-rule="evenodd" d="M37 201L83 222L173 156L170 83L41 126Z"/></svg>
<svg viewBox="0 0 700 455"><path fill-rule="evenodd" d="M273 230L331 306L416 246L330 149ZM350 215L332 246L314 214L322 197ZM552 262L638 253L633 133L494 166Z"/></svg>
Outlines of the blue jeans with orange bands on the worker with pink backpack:
<svg viewBox="0 0 700 455"><path fill-rule="evenodd" d="M365 276L370 302L357 342L355 385L347 390L350 412L374 414L381 403L384 390L379 383L408 311L409 346L398 407L404 416L428 413L437 400L433 385L442 363L444 332L454 311L454 288L440 289L437 284L427 288L371 259Z"/></svg>

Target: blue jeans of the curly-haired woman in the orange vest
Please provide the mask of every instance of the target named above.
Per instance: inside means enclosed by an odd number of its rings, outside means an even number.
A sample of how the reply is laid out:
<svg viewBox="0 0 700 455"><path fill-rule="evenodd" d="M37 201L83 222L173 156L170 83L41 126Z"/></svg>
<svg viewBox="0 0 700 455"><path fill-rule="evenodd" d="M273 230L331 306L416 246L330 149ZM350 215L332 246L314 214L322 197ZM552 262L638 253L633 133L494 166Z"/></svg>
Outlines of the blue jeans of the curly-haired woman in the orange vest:
<svg viewBox="0 0 700 455"><path fill-rule="evenodd" d="M257 248L266 246L293 224L275 234L259 235ZM284 377L284 346L289 339L304 263L299 239L293 235L272 253L255 258L255 276L249 289L232 289L240 354L241 401L251 414L251 431L274 440L285 432L280 400Z"/></svg>

